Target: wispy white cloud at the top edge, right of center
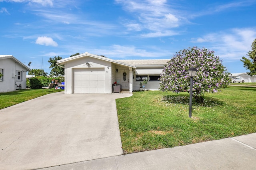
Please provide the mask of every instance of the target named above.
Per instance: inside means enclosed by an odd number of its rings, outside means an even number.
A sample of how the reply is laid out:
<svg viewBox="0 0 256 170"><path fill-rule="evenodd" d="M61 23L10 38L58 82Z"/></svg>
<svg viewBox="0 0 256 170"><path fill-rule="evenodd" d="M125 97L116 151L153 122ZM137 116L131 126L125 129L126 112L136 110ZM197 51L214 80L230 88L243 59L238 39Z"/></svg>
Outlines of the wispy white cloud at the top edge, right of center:
<svg viewBox="0 0 256 170"><path fill-rule="evenodd" d="M172 36L178 34L166 34L172 28L179 27L186 18L178 16L176 11L167 4L166 0L116 0L117 3L122 4L124 10L130 12L134 16L134 20L124 24L128 31L143 31L148 30L148 34L141 34L144 37L155 37L159 34L161 36ZM127 23L127 19L124 19ZM151 34L153 34L151 36Z"/></svg>

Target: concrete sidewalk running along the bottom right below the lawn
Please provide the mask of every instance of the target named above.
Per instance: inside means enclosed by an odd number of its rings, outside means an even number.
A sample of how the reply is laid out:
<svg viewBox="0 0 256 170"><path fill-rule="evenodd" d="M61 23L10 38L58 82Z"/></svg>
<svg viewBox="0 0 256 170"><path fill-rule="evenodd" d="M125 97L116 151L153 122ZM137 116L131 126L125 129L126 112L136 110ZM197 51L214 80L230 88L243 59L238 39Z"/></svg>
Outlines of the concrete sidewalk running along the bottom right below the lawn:
<svg viewBox="0 0 256 170"><path fill-rule="evenodd" d="M44 168L44 170L252 170L256 133Z"/></svg>

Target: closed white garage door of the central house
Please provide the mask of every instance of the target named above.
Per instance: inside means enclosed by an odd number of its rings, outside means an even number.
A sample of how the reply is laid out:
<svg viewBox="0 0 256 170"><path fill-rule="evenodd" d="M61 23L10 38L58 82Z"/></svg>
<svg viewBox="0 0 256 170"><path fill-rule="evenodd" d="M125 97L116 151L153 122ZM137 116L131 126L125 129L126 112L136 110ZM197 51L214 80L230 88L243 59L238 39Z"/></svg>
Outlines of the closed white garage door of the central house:
<svg viewBox="0 0 256 170"><path fill-rule="evenodd" d="M74 93L104 93L104 68L74 69Z"/></svg>

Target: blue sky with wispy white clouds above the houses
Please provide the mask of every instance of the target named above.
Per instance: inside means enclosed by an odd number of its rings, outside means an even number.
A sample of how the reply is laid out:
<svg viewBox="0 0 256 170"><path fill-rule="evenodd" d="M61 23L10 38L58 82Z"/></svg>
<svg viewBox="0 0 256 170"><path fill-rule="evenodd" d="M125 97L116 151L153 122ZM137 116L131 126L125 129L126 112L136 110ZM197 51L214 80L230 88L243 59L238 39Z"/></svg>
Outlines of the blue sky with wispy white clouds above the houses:
<svg viewBox="0 0 256 170"><path fill-rule="evenodd" d="M255 9L256 0L0 0L0 55L50 73L54 56L170 59L198 46L241 73L256 38Z"/></svg>

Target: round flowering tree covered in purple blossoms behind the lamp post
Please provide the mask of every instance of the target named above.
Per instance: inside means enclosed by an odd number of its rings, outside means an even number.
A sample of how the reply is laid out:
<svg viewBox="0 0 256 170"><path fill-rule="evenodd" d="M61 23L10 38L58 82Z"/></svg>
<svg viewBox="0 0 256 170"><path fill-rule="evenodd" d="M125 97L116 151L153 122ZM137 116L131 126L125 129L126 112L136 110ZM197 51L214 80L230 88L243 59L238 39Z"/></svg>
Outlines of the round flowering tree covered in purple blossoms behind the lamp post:
<svg viewBox="0 0 256 170"><path fill-rule="evenodd" d="M180 50L165 65L160 75L160 90L179 93L190 91L188 69L195 67L198 71L193 79L193 97L202 103L205 92L217 92L230 82L227 69L222 65L214 51L206 48L189 47Z"/></svg>

